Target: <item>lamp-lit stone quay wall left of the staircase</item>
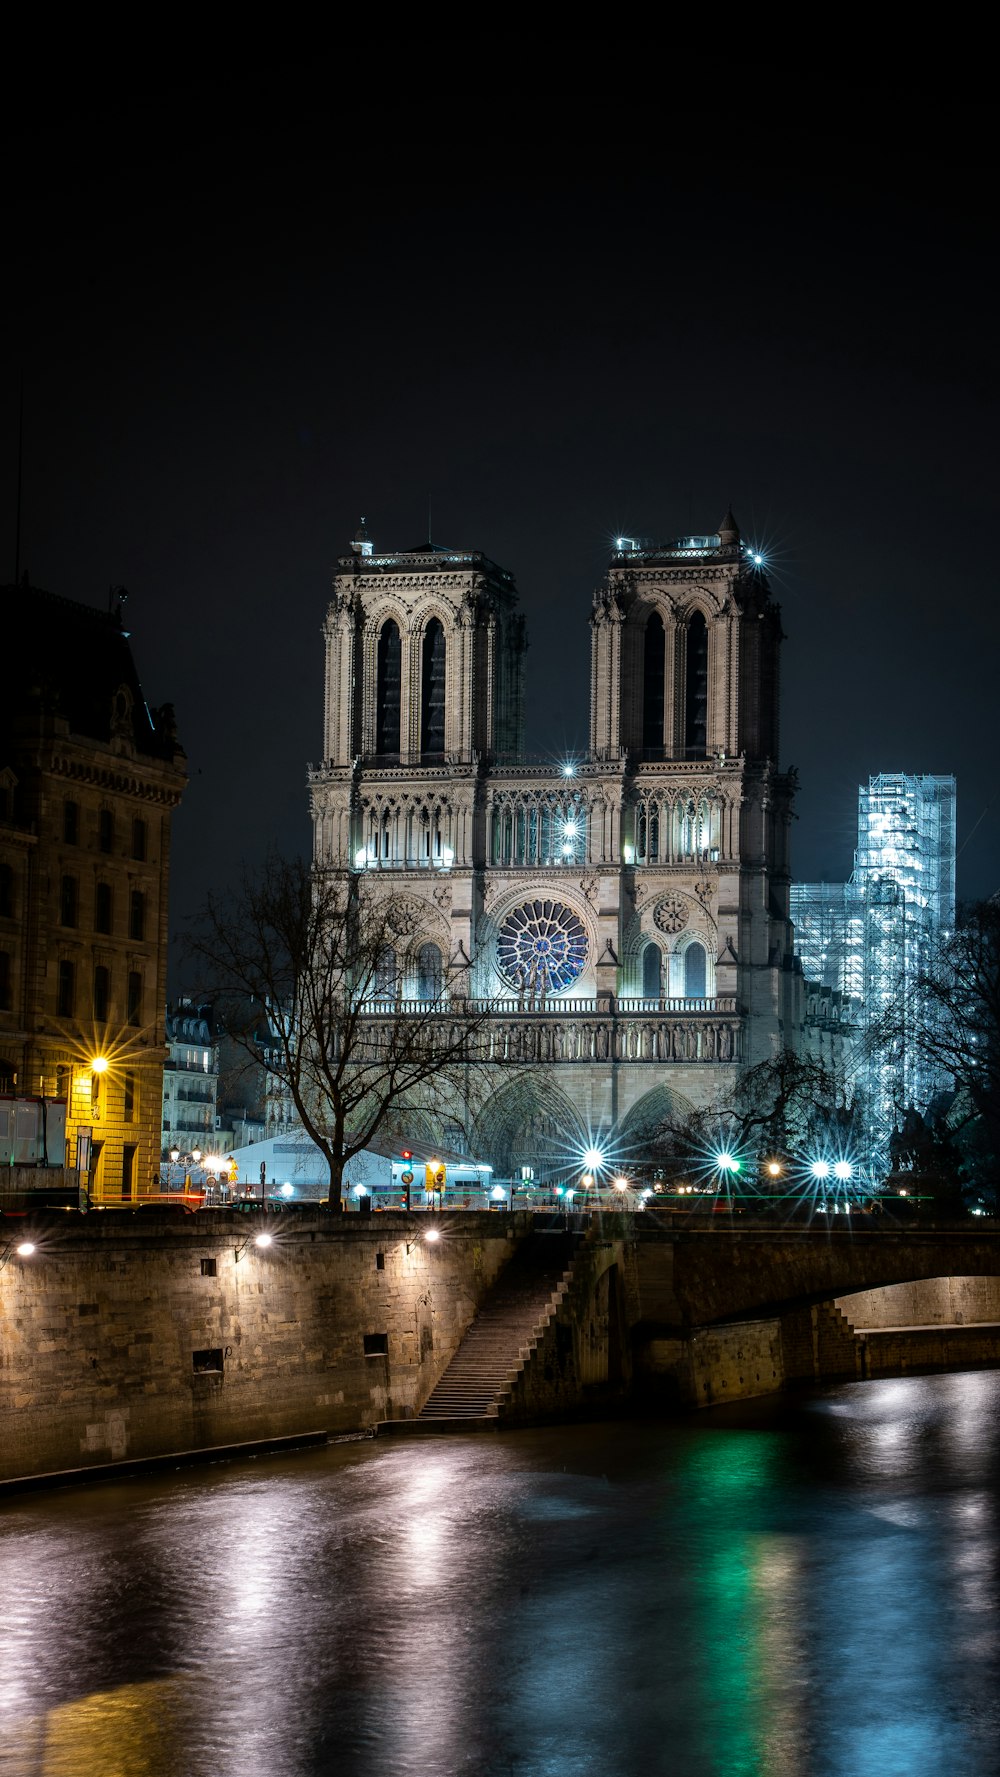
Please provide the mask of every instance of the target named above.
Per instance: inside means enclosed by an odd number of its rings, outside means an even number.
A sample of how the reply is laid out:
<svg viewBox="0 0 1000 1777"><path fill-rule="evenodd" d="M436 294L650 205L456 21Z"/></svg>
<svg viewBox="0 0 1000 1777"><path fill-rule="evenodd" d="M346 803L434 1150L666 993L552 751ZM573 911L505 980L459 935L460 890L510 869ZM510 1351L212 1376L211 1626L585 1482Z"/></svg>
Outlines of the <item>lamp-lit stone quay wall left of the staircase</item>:
<svg viewBox="0 0 1000 1777"><path fill-rule="evenodd" d="M407 1418L529 1221L4 1217L0 1480Z"/></svg>

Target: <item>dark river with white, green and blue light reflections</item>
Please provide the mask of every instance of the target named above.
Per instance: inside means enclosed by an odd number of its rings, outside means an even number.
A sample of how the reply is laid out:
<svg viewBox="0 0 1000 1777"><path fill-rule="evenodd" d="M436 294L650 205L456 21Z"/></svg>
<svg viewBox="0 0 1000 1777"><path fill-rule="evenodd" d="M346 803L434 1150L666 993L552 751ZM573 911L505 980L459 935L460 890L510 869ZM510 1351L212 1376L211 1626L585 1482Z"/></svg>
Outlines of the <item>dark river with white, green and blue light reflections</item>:
<svg viewBox="0 0 1000 1777"><path fill-rule="evenodd" d="M2 1777L989 1777L1000 1374L7 1498Z"/></svg>

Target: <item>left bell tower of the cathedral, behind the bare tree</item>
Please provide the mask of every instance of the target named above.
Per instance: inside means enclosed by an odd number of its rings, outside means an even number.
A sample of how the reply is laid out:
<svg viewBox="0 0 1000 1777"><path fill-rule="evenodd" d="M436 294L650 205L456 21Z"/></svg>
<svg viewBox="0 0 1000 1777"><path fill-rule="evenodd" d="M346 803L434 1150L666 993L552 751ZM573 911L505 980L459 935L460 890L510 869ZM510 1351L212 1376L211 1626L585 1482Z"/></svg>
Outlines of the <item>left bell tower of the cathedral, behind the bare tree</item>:
<svg viewBox="0 0 1000 1777"><path fill-rule="evenodd" d="M323 636L314 860L391 871L387 892L410 908L433 967L462 970L483 775L520 748L526 640L513 578L478 551L439 544L382 554L362 521L337 562ZM416 997L417 965L400 968L401 992Z"/></svg>

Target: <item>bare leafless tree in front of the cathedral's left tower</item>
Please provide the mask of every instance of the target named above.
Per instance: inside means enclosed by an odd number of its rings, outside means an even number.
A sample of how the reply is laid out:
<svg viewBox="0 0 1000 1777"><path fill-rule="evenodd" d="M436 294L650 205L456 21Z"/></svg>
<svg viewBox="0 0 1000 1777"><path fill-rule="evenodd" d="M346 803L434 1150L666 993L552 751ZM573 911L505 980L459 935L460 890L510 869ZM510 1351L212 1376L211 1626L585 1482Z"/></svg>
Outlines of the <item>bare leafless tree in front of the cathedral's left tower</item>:
<svg viewBox="0 0 1000 1777"><path fill-rule="evenodd" d="M199 992L227 999L233 1040L288 1088L329 1166L330 1207L355 1153L407 1107L464 1098L476 1066L465 968L442 958L403 999L414 935L412 903L384 883L272 857L234 897L210 896L188 938Z"/></svg>

